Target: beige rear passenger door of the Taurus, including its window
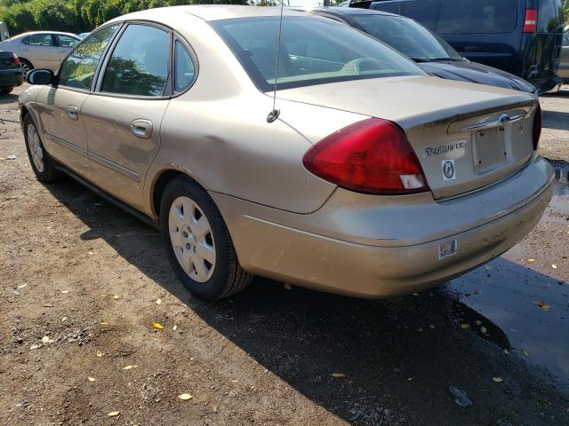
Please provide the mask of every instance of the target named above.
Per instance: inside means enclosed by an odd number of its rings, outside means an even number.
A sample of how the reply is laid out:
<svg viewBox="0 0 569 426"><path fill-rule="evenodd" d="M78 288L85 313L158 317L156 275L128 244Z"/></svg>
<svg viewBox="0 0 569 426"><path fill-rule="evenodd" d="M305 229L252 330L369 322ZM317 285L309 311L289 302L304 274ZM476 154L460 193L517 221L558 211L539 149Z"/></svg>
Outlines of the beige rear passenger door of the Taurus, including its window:
<svg viewBox="0 0 569 426"><path fill-rule="evenodd" d="M171 44L166 28L128 24L82 106L93 183L135 208L172 95Z"/></svg>

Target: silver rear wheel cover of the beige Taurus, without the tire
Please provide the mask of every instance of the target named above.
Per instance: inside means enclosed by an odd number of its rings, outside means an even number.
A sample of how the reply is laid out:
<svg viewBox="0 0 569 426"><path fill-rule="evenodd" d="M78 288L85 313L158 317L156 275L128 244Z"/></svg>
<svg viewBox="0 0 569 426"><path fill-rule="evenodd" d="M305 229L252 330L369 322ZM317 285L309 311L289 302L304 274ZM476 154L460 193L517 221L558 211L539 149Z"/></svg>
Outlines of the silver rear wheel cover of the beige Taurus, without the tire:
<svg viewBox="0 0 569 426"><path fill-rule="evenodd" d="M196 202L186 196L176 198L170 206L168 229L174 254L189 278L197 282L212 278L217 257L212 226Z"/></svg>

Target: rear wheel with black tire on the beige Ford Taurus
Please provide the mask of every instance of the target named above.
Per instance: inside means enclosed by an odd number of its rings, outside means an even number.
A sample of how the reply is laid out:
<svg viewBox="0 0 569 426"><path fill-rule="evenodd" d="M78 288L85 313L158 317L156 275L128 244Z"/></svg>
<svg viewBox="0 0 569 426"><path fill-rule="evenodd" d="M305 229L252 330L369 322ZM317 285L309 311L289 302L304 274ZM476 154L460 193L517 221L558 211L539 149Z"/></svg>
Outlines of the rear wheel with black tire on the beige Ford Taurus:
<svg viewBox="0 0 569 426"><path fill-rule="evenodd" d="M175 177L164 188L160 229L172 269L194 295L219 300L251 282L252 275L237 260L220 210L188 177Z"/></svg>

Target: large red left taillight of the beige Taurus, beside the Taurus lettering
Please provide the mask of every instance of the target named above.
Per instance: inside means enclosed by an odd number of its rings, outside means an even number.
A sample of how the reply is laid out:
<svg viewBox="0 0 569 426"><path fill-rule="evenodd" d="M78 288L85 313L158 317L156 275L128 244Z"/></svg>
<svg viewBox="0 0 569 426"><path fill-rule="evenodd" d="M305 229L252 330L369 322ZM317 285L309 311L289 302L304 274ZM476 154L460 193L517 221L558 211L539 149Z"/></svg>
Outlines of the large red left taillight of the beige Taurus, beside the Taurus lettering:
<svg viewBox="0 0 569 426"><path fill-rule="evenodd" d="M318 177L360 193L429 191L404 131L378 118L356 122L322 139L302 162Z"/></svg>

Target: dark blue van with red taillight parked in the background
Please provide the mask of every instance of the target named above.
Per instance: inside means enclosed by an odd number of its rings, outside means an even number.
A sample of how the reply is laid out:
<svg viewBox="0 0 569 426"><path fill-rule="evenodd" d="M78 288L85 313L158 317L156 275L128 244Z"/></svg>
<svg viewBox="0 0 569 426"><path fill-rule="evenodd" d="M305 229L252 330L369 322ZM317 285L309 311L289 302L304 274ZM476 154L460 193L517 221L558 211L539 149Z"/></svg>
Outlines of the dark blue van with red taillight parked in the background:
<svg viewBox="0 0 569 426"><path fill-rule="evenodd" d="M540 93L556 88L562 0L384 0L343 4L421 22L462 56L518 75Z"/></svg>

